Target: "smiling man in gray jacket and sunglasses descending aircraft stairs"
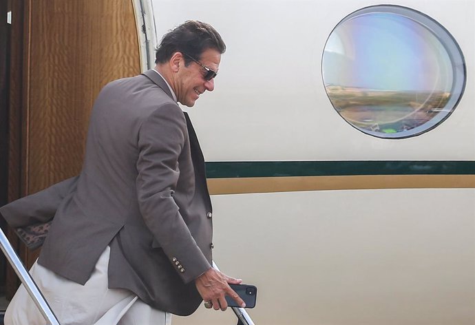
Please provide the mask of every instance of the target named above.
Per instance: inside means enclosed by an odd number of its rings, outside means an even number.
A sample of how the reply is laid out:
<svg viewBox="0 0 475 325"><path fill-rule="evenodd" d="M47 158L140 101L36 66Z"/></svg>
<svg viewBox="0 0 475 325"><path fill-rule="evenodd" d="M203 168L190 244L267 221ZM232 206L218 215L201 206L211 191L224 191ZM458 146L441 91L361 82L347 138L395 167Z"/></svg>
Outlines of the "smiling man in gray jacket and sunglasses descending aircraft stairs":
<svg viewBox="0 0 475 325"><path fill-rule="evenodd" d="M154 70L101 90L81 174L0 208L15 228L54 217L31 273L61 324L169 324L202 300L225 310L224 295L244 306L241 280L211 267L204 159L177 104L214 89L225 50L207 23L166 34ZM23 287L6 324L45 324Z"/></svg>

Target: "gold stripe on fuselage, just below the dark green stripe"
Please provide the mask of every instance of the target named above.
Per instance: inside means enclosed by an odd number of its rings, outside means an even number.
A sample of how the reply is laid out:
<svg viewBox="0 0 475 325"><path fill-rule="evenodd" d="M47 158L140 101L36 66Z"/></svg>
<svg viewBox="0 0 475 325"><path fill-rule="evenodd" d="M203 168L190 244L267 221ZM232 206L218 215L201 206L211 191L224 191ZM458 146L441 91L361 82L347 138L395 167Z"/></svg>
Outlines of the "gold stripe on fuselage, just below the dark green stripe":
<svg viewBox="0 0 475 325"><path fill-rule="evenodd" d="M209 178L209 193L272 193L341 189L475 188L475 175L363 175Z"/></svg>

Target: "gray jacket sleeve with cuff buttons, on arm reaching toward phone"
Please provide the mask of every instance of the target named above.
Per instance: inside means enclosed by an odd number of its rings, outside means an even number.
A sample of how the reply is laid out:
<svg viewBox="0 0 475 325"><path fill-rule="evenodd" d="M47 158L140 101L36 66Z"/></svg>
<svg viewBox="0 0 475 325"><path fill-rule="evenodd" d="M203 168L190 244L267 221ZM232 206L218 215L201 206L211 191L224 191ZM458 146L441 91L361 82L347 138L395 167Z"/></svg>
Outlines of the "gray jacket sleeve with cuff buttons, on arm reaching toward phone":
<svg viewBox="0 0 475 325"><path fill-rule="evenodd" d="M173 199L186 137L182 110L173 103L158 107L140 127L136 182L140 213L169 260L176 258L186 269L177 270L185 283L211 267Z"/></svg>

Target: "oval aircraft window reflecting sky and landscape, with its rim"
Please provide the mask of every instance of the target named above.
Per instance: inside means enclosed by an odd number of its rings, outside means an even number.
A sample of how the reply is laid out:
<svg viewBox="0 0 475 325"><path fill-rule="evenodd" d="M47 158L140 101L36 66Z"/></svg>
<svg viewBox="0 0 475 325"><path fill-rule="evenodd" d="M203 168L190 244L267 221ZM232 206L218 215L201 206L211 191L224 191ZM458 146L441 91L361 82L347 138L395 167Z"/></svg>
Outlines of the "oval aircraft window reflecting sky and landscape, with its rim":
<svg viewBox="0 0 475 325"><path fill-rule="evenodd" d="M363 8L343 19L326 41L322 74L341 117L379 138L436 127L465 88L465 61L452 35L400 6Z"/></svg>

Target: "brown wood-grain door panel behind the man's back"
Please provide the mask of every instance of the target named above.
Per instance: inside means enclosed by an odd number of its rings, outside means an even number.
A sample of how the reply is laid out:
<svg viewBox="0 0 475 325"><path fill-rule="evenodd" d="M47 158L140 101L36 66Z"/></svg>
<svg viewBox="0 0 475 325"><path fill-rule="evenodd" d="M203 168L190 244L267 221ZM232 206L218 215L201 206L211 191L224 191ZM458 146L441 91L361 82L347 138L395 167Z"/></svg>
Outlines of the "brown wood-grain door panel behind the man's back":
<svg viewBox="0 0 475 325"><path fill-rule="evenodd" d="M94 98L140 73L132 0L12 2L21 59L11 65L10 200L78 174ZM39 255L19 250L28 267Z"/></svg>

